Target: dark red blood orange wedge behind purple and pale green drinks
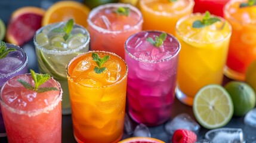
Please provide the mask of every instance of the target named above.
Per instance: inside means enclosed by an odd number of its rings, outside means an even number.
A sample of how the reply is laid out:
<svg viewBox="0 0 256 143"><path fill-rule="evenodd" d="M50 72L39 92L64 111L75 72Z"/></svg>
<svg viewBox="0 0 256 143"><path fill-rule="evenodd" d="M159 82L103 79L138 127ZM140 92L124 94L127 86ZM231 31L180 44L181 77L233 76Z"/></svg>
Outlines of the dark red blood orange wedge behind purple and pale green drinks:
<svg viewBox="0 0 256 143"><path fill-rule="evenodd" d="M44 13L38 7L22 7L14 11L7 25L6 41L19 46L30 41L41 27Z"/></svg>

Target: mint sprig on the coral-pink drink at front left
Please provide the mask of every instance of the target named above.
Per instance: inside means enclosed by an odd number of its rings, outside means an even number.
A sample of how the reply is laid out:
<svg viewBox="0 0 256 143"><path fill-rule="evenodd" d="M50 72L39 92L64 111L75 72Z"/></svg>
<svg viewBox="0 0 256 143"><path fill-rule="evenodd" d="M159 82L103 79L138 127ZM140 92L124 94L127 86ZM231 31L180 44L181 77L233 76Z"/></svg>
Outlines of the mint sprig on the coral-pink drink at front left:
<svg viewBox="0 0 256 143"><path fill-rule="evenodd" d="M24 80L21 79L17 79L18 82L21 83L21 85L24 86L24 88L38 92L38 93L42 93L45 91L57 91L58 89L55 87L42 87L39 88L40 85L42 85L43 83L45 83L48 79L50 79L50 74L39 74L39 73L35 73L35 71L30 69L30 73L31 73L31 77L34 80L35 86L33 87L32 85L30 85L29 83L25 82Z"/></svg>

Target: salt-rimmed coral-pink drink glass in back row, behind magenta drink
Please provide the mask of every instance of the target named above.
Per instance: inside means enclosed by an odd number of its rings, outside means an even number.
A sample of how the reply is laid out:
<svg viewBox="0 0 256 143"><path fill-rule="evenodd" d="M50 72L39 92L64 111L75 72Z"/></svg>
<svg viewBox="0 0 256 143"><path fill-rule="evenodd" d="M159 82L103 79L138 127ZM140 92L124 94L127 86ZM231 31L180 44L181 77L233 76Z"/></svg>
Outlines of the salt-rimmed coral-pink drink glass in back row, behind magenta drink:
<svg viewBox="0 0 256 143"><path fill-rule="evenodd" d="M113 9L119 7L128 7L129 15L131 15L131 20L136 21L134 25L127 24L127 27L124 26L121 30L105 29L104 27L97 26L94 23L95 18L103 17L105 19L109 13L113 13ZM105 10L102 11L102 10ZM102 11L102 12L101 12ZM100 14L99 14L100 13ZM106 16L105 16L106 15ZM124 21L124 17L118 17L116 20L104 20L109 21L109 24L118 23L116 27L120 26L123 23L127 23ZM143 23L143 17L140 11L129 4L105 4L98 6L90 11L87 19L88 30L91 36L90 48L91 50L99 50L99 51L109 51L114 52L119 55L121 58L124 58L124 43L125 40L134 33L141 31L141 26Z"/></svg>

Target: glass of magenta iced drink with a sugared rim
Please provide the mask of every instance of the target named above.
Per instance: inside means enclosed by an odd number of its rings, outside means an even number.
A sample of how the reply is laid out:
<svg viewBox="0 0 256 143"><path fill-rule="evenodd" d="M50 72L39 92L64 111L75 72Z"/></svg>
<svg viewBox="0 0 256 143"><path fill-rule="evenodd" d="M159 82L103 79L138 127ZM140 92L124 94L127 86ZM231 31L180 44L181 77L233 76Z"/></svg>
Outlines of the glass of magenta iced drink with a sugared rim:
<svg viewBox="0 0 256 143"><path fill-rule="evenodd" d="M175 95L180 43L169 34L159 47L147 41L161 34L143 31L125 42L128 112L135 122L147 126L160 125L169 119Z"/></svg>

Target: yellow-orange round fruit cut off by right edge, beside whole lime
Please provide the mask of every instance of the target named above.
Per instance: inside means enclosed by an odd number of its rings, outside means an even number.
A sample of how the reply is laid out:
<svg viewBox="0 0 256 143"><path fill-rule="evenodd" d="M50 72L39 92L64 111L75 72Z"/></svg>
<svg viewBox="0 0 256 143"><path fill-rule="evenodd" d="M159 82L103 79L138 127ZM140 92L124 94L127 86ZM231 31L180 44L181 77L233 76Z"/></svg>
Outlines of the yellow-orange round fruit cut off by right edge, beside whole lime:
<svg viewBox="0 0 256 143"><path fill-rule="evenodd" d="M252 61L246 69L245 82L256 92L256 60Z"/></svg>

